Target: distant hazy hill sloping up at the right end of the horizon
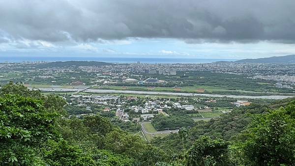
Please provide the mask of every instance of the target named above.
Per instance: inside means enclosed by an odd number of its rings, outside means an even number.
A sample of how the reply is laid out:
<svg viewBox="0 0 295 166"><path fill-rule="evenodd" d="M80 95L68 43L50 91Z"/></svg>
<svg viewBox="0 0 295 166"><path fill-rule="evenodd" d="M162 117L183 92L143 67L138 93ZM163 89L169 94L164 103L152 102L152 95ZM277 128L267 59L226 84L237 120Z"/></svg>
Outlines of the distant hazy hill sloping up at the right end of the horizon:
<svg viewBox="0 0 295 166"><path fill-rule="evenodd" d="M295 55L272 56L257 59L241 59L236 61L218 61L214 63L295 63Z"/></svg>

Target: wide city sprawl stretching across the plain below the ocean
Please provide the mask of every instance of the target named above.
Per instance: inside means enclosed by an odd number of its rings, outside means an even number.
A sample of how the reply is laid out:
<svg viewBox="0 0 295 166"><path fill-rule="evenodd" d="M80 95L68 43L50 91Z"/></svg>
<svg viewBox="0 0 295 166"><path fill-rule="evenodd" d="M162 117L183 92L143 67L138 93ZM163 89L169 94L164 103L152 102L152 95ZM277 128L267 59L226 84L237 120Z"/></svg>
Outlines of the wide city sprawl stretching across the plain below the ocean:
<svg viewBox="0 0 295 166"><path fill-rule="evenodd" d="M295 88L294 63L195 63L195 64L147 64L126 63L105 66L39 67L45 62L1 63L1 71L21 73L14 82L42 82L69 85L123 84L123 83L166 83L155 78L141 77L149 74L177 75L179 72L209 71L245 75L250 79L275 81L279 88ZM83 75L82 75L83 74ZM138 77L133 77L138 76ZM8 75L0 76L8 78ZM29 78L29 81L28 79ZM129 78L129 79L128 79ZM133 78L133 79L130 79ZM3 82L7 83L7 80ZM285 84L287 83L287 84Z"/></svg>

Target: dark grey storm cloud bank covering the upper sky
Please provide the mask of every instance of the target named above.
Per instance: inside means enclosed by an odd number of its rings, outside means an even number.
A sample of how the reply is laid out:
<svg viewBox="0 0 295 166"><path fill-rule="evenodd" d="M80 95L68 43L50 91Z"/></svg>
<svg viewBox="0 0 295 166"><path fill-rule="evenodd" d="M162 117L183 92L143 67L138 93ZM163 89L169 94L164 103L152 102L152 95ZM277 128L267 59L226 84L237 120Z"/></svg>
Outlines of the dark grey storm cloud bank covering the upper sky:
<svg viewBox="0 0 295 166"><path fill-rule="evenodd" d="M295 0L1 0L0 31L11 40L49 42L159 37L294 43L294 8Z"/></svg>

